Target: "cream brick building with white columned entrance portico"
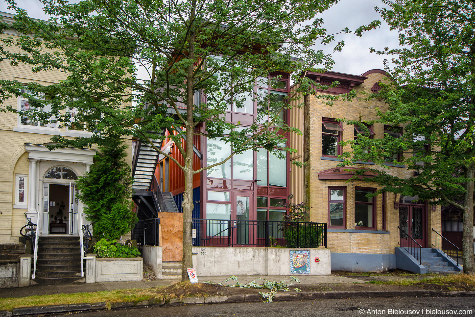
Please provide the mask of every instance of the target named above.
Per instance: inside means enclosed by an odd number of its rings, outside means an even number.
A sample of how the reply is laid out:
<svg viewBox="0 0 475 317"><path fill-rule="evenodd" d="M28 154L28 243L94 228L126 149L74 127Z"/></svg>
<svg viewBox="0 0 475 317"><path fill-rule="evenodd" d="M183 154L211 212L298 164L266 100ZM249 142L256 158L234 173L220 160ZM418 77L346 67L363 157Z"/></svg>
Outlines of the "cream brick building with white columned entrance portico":
<svg viewBox="0 0 475 317"><path fill-rule="evenodd" d="M11 14L0 14L5 22L13 22ZM12 37L15 41L20 34L15 29L7 29L0 36ZM9 49L19 50L14 46ZM25 84L36 82L47 86L66 79L65 74L57 71L33 74L31 66L13 67L10 60L3 60L0 69L2 79ZM28 100L11 98L4 103L4 106L9 105L21 110L28 107ZM57 124L41 126L13 113L0 113L0 244L19 243L20 228L26 224L25 212L38 224L40 236L52 233L78 235L78 215L82 214L83 204L76 198L75 182L77 176L89 171L96 150L64 148L49 151L46 145L58 134L67 137L91 135L86 131L58 128ZM131 141L126 143L130 147ZM130 156L128 162L131 162ZM61 224L58 223L60 218Z"/></svg>

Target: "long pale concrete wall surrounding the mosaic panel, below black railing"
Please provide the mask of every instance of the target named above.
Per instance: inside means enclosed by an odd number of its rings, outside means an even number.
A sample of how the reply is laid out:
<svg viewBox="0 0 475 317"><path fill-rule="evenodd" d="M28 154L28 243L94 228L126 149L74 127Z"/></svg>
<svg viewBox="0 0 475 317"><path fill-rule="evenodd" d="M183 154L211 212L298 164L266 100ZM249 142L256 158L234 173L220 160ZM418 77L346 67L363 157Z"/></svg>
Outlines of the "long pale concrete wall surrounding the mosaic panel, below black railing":
<svg viewBox="0 0 475 317"><path fill-rule="evenodd" d="M291 273L291 250L310 251L310 273ZM193 247L193 253L198 276L330 275L329 249Z"/></svg>

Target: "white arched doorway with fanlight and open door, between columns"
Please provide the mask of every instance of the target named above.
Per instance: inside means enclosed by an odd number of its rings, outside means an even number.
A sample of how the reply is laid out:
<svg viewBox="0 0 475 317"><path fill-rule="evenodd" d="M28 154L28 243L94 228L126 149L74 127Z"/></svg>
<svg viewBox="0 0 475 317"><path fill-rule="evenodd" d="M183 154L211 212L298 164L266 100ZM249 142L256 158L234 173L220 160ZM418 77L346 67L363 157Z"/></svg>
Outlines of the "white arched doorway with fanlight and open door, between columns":
<svg viewBox="0 0 475 317"><path fill-rule="evenodd" d="M49 169L43 178L43 233L77 234L79 203L76 173L66 166Z"/></svg>

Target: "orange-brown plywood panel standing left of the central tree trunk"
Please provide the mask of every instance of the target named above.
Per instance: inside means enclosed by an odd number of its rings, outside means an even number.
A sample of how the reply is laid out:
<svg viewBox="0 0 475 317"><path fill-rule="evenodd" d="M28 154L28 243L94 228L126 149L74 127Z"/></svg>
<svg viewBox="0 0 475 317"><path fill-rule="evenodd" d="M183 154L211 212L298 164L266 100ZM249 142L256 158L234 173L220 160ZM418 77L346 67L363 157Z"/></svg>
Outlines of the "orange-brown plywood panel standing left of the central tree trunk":
<svg viewBox="0 0 475 317"><path fill-rule="evenodd" d="M180 212L160 212L160 241L163 262L181 262L183 214Z"/></svg>

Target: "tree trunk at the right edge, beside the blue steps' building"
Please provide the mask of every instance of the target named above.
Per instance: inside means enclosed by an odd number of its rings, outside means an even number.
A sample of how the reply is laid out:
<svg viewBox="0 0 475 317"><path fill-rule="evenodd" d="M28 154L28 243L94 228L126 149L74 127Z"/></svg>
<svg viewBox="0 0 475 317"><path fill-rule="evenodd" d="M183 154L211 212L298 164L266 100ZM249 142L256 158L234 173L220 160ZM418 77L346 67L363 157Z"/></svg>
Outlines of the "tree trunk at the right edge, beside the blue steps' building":
<svg viewBox="0 0 475 317"><path fill-rule="evenodd" d="M465 177L469 180L466 183L463 211L464 229L462 231L462 262L464 264L464 274L475 275L474 265L474 179L475 166L472 164L465 169Z"/></svg>

